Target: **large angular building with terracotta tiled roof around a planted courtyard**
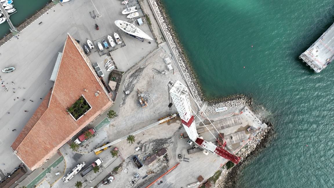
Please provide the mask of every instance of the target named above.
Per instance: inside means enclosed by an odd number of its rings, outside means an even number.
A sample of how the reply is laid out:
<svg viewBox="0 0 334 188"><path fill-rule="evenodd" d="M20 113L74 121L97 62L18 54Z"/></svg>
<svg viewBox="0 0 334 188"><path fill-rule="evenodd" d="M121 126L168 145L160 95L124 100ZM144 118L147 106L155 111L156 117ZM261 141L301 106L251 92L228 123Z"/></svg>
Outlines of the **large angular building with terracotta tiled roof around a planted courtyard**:
<svg viewBox="0 0 334 188"><path fill-rule="evenodd" d="M67 109L81 96L90 109L75 119ZM67 34L54 86L11 147L34 170L112 104L90 60Z"/></svg>

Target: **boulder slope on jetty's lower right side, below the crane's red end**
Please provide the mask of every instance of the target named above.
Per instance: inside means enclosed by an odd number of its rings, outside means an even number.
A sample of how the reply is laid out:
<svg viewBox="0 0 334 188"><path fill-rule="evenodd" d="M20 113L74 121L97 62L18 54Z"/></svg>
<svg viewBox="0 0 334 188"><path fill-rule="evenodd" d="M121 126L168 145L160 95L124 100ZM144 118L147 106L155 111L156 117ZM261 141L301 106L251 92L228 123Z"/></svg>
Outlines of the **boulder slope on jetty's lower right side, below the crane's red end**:
<svg viewBox="0 0 334 188"><path fill-rule="evenodd" d="M237 181L239 179L242 168L247 165L247 162L252 158L257 157L263 148L266 148L271 139L274 138L274 129L270 123L268 127L261 130L257 135L249 140L247 144L238 152L236 156L241 157L239 164L232 168L223 171L220 178L217 180L215 187L220 188L237 188Z"/></svg>

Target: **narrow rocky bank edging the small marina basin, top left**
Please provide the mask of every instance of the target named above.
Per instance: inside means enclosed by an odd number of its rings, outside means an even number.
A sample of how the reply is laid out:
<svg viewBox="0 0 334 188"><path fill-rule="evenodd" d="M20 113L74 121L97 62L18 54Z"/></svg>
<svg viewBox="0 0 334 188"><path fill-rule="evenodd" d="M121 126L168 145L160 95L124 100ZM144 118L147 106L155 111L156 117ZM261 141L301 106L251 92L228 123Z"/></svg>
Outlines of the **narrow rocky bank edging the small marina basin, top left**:
<svg viewBox="0 0 334 188"><path fill-rule="evenodd" d="M30 24L32 24L34 21L36 21L38 18L40 18L42 15L44 15L46 12L48 12L52 7L54 7L55 4L53 2L50 2L46 4L42 9L37 11L34 15L30 16L29 18L26 18L24 22L19 24L16 28L19 32L23 31L26 27L28 27ZM11 40L14 37L13 33L9 33L3 38L0 39L0 47L7 43L9 40Z"/></svg>

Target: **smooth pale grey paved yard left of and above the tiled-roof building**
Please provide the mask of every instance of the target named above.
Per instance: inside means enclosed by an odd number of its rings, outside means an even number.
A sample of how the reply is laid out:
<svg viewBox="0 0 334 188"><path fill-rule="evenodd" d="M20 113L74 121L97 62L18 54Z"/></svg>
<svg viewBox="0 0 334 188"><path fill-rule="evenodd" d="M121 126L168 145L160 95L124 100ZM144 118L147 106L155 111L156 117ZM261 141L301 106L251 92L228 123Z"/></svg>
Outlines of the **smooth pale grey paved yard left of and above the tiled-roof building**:
<svg viewBox="0 0 334 188"><path fill-rule="evenodd" d="M125 15L121 14L125 6L118 1L96 1L95 6L102 17L93 19L89 13L94 10L90 0L70 1L63 3L63 6L57 4L38 21L18 34L18 39L13 38L0 48L0 67L16 68L14 72L1 73L3 84L9 88L7 92L2 88L0 90L2 104L0 159L5 164L0 169L3 173L10 172L20 164L20 160L13 155L10 146L42 101L40 98L44 98L53 85L49 77L57 52L63 49L66 33L70 33L81 41L80 44L83 44L87 38L95 40L118 30L114 24L115 20L127 21ZM39 22L42 23L38 24ZM95 29L95 23L99 25L99 30ZM140 28L153 37L147 24ZM148 41L138 41L124 32L119 34L122 35L126 46L112 52L112 57L121 70L128 69L157 47L155 41L149 44ZM93 52L89 58L92 62L99 64L104 59L96 52ZM26 100L22 101L22 99ZM12 131L12 129L16 130Z"/></svg>

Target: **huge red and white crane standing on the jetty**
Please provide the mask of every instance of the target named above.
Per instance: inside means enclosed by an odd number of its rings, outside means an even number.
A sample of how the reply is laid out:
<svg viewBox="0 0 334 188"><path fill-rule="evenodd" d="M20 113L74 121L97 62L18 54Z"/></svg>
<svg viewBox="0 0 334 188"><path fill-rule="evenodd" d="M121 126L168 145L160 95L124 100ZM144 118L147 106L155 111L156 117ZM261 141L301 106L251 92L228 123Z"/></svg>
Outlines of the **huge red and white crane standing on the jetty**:
<svg viewBox="0 0 334 188"><path fill-rule="evenodd" d="M224 150L223 147L218 147L213 143L207 142L204 139L198 137L196 125L194 122L195 118L190 106L188 88L184 86L179 80L177 80L175 83L170 80L168 82L168 86L170 87L170 96L173 99L175 107L181 117L184 129L186 130L189 138L204 150L215 153L235 164L238 164L240 157L230 154ZM223 146L225 146L225 143Z"/></svg>

